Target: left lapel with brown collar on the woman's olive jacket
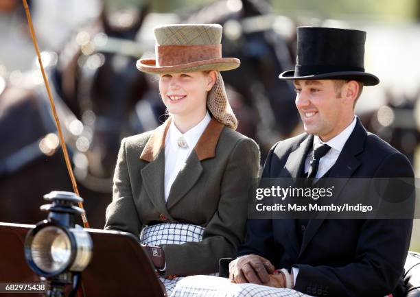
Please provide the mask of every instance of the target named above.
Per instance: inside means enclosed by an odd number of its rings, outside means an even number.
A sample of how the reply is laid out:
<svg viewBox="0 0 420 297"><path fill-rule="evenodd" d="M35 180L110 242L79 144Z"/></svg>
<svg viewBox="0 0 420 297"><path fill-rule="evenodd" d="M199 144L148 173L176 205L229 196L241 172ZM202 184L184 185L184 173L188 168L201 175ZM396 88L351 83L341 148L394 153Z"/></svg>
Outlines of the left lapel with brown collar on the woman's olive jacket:
<svg viewBox="0 0 420 297"><path fill-rule="evenodd" d="M154 207L169 219L165 206L165 137L170 127L171 118L156 128L146 143L140 159L149 162L141 169L143 187Z"/></svg>

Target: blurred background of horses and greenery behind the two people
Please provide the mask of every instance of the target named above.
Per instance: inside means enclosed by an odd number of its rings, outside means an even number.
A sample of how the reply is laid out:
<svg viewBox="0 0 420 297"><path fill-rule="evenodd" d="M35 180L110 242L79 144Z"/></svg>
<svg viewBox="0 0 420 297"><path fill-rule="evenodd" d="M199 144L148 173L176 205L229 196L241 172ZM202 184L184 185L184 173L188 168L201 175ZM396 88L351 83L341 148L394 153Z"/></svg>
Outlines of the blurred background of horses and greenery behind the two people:
<svg viewBox="0 0 420 297"><path fill-rule="evenodd" d="M91 226L102 228L124 136L164 121L156 78L135 61L154 57L152 27L220 23L223 74L238 130L264 160L275 142L299 134L294 91L277 76L296 59L296 26L367 32L366 87L356 113L406 154L420 176L420 0L28 0L51 91ZM42 196L72 191L47 93L19 0L0 1L0 222L44 219ZM420 252L416 220L411 250Z"/></svg>

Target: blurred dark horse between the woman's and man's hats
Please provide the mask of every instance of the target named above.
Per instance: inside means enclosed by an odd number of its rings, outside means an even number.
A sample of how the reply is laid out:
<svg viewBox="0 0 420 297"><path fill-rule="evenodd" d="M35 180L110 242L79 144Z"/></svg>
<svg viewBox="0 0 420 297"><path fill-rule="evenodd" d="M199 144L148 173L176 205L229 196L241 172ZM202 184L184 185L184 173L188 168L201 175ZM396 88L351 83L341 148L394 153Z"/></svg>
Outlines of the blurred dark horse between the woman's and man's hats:
<svg viewBox="0 0 420 297"><path fill-rule="evenodd" d="M278 79L293 68L290 44L273 29L276 19L269 11L265 1L222 0L187 18L187 23L223 25L223 56L241 60L239 69L223 73L226 88L234 91L230 100L238 130L259 143L262 156L275 142L292 136L300 123L294 89Z"/></svg>

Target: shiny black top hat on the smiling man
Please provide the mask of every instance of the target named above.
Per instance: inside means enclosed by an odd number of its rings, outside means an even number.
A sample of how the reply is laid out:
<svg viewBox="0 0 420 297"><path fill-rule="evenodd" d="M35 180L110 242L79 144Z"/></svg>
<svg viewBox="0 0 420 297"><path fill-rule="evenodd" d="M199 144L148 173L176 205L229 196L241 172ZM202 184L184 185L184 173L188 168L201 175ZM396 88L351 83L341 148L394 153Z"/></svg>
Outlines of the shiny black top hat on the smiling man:
<svg viewBox="0 0 420 297"><path fill-rule="evenodd" d="M365 86L380 80L364 72L366 32L323 27L297 28L297 58L294 70L281 80L357 80Z"/></svg>

